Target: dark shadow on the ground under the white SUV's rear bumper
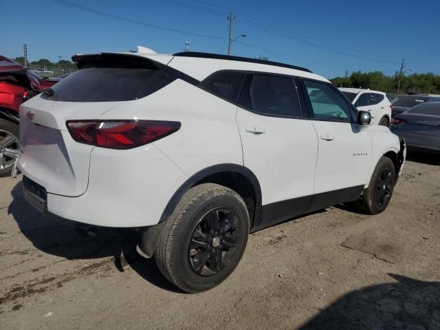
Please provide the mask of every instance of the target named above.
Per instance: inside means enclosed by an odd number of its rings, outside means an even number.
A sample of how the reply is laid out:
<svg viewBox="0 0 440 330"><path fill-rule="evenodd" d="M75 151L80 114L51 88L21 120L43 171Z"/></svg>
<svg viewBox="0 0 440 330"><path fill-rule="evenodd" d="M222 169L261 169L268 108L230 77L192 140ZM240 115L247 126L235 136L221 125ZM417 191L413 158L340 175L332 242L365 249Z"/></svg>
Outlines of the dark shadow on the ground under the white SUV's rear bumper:
<svg viewBox="0 0 440 330"><path fill-rule="evenodd" d="M35 210L25 200L21 181L11 192L12 214L23 235L35 248L69 260L113 257L114 266L124 272L129 265L149 283L170 292L181 293L159 272L154 259L147 259L136 250L138 233L125 228L97 228L81 232L59 219Z"/></svg>

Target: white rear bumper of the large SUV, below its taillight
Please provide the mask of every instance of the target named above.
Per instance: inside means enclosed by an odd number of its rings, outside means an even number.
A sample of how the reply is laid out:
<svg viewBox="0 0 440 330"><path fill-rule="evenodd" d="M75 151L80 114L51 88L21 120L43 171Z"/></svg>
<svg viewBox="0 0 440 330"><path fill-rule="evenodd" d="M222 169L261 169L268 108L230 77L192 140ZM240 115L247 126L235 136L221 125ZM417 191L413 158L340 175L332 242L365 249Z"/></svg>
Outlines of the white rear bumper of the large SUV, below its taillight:
<svg viewBox="0 0 440 330"><path fill-rule="evenodd" d="M28 177L23 177L23 194L41 212L76 223L115 228L155 225L175 187L188 177L153 145L125 152L121 157L121 151L94 149L83 195L46 192Z"/></svg>

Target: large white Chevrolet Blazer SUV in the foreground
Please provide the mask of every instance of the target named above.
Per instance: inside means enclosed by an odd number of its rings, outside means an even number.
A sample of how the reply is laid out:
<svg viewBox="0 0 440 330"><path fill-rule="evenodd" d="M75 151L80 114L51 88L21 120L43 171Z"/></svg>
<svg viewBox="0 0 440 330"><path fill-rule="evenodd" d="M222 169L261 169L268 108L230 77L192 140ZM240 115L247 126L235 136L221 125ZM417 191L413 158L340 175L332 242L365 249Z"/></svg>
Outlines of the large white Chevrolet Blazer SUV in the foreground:
<svg viewBox="0 0 440 330"><path fill-rule="evenodd" d="M21 106L24 195L71 223L137 228L187 292L231 274L250 232L391 200L403 142L308 69L195 52L73 60Z"/></svg>

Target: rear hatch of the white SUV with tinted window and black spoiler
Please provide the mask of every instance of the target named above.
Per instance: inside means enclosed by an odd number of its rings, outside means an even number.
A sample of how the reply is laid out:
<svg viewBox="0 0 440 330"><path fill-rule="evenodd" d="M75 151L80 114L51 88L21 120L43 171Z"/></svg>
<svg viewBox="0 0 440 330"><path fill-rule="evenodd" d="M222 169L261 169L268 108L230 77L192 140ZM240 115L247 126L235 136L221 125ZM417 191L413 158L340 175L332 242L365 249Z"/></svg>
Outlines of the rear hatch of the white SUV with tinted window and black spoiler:
<svg viewBox="0 0 440 330"><path fill-rule="evenodd" d="M110 109L151 94L167 81L163 65L135 54L94 54L74 60L77 72L21 105L19 159L23 174L47 192L72 197L87 190L95 147L75 142L67 120L99 120Z"/></svg>

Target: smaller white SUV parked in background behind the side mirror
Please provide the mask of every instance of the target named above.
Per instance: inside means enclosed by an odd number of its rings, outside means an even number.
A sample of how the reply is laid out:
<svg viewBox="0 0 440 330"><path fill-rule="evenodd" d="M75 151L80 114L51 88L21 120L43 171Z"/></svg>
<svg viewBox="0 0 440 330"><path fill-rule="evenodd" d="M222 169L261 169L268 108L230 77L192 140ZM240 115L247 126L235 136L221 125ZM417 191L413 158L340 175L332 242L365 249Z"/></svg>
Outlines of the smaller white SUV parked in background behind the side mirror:
<svg viewBox="0 0 440 330"><path fill-rule="evenodd" d="M371 124L390 126L391 123L391 96L383 91L371 91L360 88L340 88L359 111L371 113Z"/></svg>

